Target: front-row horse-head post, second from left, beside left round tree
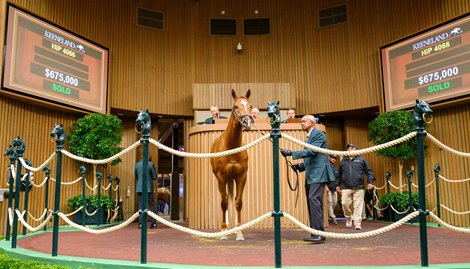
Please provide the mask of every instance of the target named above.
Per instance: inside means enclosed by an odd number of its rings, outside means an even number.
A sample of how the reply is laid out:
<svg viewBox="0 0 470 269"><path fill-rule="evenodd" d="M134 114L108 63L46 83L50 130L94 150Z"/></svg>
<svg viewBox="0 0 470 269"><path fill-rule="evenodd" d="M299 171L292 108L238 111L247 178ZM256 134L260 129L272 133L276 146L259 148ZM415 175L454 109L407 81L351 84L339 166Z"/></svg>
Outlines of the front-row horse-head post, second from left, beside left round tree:
<svg viewBox="0 0 470 269"><path fill-rule="evenodd" d="M59 248L59 211L60 211L60 184L62 178L62 152L65 144L65 131L62 124L58 124L51 132L51 138L56 137L56 176L55 176L55 196L54 196L54 226L52 227L52 256L57 256Z"/></svg>

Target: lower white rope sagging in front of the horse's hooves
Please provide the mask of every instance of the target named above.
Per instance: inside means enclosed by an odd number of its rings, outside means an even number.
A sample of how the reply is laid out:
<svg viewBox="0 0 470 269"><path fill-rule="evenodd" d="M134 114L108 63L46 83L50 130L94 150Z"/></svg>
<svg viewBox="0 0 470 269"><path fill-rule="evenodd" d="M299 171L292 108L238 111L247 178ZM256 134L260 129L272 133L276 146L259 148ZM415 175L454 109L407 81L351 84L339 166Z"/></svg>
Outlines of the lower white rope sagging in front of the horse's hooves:
<svg viewBox="0 0 470 269"><path fill-rule="evenodd" d="M258 218L248 222L248 223L244 223L240 226L237 226L235 228L232 228L230 230L225 230L223 232L214 232L214 233L208 233L208 232L200 232L200 231L196 231L196 230L192 230L190 228L187 228L187 227L183 227L181 225L178 225L178 224L175 224L173 222L170 222L170 221L167 221L166 219L158 216L157 214L153 213L152 211L148 211L147 214L154 218L155 220L157 220L158 222L160 223L163 223L164 225L167 225L173 229L176 229L178 231L182 231L182 232L185 232L185 233L188 233L188 234L192 234L192 235L195 235L195 236L200 236L200 237L207 237L207 238L214 238L214 237L221 237L221 236L224 236L224 235L229 235L229 234L233 234L233 233L237 233L239 231L242 231L246 228L249 228L251 226L254 226L256 225L257 223L269 218L272 213L271 212L268 212L262 216L259 216Z"/></svg>

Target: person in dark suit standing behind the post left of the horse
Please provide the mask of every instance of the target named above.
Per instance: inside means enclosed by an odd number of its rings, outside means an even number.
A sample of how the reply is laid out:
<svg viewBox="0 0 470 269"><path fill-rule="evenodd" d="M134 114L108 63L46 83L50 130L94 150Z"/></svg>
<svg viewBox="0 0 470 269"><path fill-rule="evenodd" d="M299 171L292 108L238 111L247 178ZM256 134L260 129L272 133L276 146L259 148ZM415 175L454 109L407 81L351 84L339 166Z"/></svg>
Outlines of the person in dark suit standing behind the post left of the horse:
<svg viewBox="0 0 470 269"><path fill-rule="evenodd" d="M134 173L135 173L135 180L137 182L135 192L137 193L137 204L139 205L139 209L142 209L142 183L144 182L143 178L143 162L142 160L138 161L135 164ZM153 213L157 213L155 211L155 202L153 197L153 186L152 180L157 179L157 172L155 171L155 165L152 162L152 159L149 155L148 159L148 170L147 170L147 201L148 201L148 210L152 211ZM157 221L154 218L151 218L152 224L150 228L157 228ZM140 218L139 218L139 228L141 227Z"/></svg>

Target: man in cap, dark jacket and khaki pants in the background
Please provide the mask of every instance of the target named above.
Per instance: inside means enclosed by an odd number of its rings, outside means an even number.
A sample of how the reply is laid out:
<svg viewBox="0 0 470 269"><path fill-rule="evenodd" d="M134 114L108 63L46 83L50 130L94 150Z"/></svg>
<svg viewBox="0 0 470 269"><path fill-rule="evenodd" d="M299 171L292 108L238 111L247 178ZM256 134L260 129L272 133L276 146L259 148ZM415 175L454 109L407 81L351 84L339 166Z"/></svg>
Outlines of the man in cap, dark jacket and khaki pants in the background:
<svg viewBox="0 0 470 269"><path fill-rule="evenodd" d="M346 145L348 151L357 150L354 144ZM341 205L346 217L346 227L362 229L362 209L364 207L364 176L367 176L367 189L374 188L374 173L366 159L361 156L344 156L339 164L336 177L336 191L342 194Z"/></svg>

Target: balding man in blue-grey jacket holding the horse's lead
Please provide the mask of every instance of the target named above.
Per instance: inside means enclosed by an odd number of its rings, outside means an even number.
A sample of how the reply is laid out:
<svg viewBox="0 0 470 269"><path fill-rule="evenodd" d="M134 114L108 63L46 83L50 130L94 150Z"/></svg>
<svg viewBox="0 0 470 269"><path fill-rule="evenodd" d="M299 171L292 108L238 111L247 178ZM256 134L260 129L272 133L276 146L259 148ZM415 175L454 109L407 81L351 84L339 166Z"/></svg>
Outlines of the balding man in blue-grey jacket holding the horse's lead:
<svg viewBox="0 0 470 269"><path fill-rule="evenodd" d="M315 128L316 120L313 115L305 115L302 117L302 129L307 135L306 143L319 148L328 148L328 141L325 133ZM328 161L328 155L313 151L309 148L303 150L290 151L282 149L283 156L292 156L292 159L304 159L303 163L293 164L294 171L305 171L305 192L307 196L308 215L310 220L310 228L324 231L323 226L323 193L325 185L330 181L334 181L334 174ZM311 235L305 241L315 244L323 244L325 238L323 236Z"/></svg>

